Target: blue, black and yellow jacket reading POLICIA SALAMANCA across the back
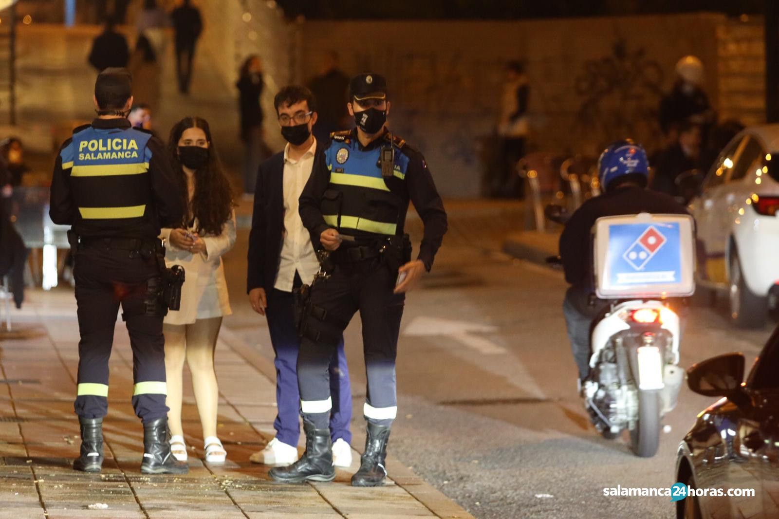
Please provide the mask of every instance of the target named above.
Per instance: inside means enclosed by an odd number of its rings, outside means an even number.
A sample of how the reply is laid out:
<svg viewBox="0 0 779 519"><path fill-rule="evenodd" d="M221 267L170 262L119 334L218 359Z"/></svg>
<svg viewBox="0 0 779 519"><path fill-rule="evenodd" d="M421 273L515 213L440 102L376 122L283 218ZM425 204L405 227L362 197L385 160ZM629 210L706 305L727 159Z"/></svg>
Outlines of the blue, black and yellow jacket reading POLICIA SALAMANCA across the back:
<svg viewBox="0 0 779 519"><path fill-rule="evenodd" d="M159 139L125 118L97 118L59 151L49 216L82 239L153 239L181 221L180 193Z"/></svg>

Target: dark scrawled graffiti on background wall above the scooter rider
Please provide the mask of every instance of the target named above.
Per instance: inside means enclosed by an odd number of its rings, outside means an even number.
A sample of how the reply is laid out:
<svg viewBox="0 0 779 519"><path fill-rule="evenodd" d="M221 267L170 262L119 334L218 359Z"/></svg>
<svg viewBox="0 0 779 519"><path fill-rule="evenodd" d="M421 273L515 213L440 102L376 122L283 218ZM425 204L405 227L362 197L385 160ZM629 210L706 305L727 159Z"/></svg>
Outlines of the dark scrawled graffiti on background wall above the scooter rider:
<svg viewBox="0 0 779 519"><path fill-rule="evenodd" d="M610 55L587 60L574 79L581 98L575 128L601 143L624 136L646 145L656 142L663 76L661 66L647 58L643 48L630 50L618 38Z"/></svg>

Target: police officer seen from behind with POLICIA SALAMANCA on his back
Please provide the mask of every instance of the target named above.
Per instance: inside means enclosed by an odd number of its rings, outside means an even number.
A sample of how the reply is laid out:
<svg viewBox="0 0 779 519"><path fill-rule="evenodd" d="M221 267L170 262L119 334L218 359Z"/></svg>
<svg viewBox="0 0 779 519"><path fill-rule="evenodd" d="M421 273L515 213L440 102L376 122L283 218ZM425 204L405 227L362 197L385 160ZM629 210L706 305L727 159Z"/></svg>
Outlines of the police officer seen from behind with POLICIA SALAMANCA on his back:
<svg viewBox="0 0 779 519"><path fill-rule="evenodd" d="M183 474L167 443L162 320L165 307L157 238L184 210L164 145L132 129L132 76L106 69L94 90L97 118L76 128L62 145L51 182L49 215L70 224L76 249L79 378L76 415L81 425L79 471L100 472L103 417L108 413L108 358L119 305L132 346L132 405L143 421L144 474Z"/></svg>

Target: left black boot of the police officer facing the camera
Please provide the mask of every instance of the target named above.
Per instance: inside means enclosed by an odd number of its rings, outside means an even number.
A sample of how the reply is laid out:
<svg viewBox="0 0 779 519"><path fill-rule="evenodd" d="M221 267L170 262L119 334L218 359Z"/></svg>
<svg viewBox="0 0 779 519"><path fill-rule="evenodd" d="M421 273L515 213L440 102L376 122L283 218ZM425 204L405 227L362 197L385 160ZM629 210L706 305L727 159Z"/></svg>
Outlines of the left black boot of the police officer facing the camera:
<svg viewBox="0 0 779 519"><path fill-rule="evenodd" d="M305 481L333 481L333 444L330 429L315 429L314 424L303 422L305 453L288 467L274 467L268 472L274 481L302 483Z"/></svg>

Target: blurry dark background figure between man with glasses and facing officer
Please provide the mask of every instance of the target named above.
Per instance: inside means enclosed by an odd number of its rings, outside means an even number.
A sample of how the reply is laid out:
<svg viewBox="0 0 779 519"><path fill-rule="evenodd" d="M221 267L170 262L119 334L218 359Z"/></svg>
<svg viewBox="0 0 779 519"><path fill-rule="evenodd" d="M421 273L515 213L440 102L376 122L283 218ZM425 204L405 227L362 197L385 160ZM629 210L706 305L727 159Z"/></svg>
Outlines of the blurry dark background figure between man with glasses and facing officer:
<svg viewBox="0 0 779 519"><path fill-rule="evenodd" d="M346 108L349 78L338 67L338 53L327 51L322 74L308 84L314 94L319 118L314 125L314 136L320 143L330 139L330 133L349 129L349 112Z"/></svg>

